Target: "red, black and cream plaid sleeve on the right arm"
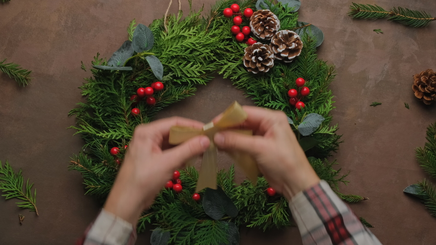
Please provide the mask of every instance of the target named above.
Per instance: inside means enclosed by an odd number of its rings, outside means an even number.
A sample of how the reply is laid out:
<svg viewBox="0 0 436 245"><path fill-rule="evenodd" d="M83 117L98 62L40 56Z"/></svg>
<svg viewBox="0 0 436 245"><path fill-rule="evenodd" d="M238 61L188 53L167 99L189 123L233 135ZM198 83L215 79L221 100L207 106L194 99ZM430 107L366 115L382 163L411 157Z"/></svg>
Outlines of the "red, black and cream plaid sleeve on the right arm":
<svg viewBox="0 0 436 245"><path fill-rule="evenodd" d="M381 245L323 180L289 203L304 245Z"/></svg>

